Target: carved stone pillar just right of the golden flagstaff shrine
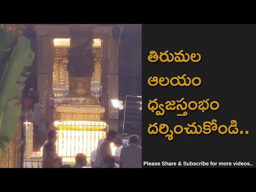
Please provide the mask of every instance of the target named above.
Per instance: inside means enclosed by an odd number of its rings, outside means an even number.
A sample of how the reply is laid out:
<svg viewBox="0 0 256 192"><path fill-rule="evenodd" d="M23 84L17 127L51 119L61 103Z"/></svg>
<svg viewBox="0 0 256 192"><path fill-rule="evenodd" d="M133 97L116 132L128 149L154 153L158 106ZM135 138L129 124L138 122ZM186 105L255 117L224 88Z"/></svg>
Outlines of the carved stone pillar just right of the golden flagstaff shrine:
<svg viewBox="0 0 256 192"><path fill-rule="evenodd" d="M119 43L111 36L112 26L98 25L94 28L94 38L102 42L102 96L101 104L105 107L104 120L110 130L118 130L118 54ZM121 32L123 28L120 27ZM111 101L112 100L112 101ZM114 103L114 105L113 105Z"/></svg>

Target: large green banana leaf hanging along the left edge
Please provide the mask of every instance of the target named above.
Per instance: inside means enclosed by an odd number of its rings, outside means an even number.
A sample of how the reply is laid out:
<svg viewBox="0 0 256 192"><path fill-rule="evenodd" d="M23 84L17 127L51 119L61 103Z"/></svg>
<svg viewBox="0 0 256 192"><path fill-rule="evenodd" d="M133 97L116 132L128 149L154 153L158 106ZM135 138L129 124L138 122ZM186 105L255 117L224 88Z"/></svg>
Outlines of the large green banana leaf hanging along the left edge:
<svg viewBox="0 0 256 192"><path fill-rule="evenodd" d="M29 75L26 69L35 56L30 41L24 36L19 38L9 56L5 50L12 44L10 34L0 31L0 163L2 150L8 147L18 126L21 113L18 98Z"/></svg>

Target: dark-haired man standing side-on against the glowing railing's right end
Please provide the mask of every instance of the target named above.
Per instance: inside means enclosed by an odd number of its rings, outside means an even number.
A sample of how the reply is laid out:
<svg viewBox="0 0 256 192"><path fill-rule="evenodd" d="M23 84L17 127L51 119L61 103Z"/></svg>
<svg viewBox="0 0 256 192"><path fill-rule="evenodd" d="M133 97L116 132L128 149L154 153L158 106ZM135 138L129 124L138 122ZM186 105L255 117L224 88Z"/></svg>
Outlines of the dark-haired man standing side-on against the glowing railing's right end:
<svg viewBox="0 0 256 192"><path fill-rule="evenodd" d="M106 134L106 139L104 139L97 147L96 151L96 160L95 167L96 168L108 168L108 164L104 162L104 157L106 155L112 155L110 143L115 142L116 132L114 130L110 130Z"/></svg>

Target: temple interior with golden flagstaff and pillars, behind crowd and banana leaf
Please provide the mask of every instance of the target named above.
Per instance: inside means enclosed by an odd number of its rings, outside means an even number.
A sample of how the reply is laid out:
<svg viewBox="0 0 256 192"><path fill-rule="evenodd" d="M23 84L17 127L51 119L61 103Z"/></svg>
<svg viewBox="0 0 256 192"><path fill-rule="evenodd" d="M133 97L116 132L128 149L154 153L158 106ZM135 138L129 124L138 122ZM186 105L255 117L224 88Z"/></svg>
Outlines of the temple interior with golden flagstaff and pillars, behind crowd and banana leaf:
<svg viewBox="0 0 256 192"><path fill-rule="evenodd" d="M70 164L78 153L89 159L108 130L118 133L113 154L122 133L141 138L141 25L9 25L1 28L19 28L35 57L20 96L19 125L2 152L1 167L40 167L49 130L58 132L57 153ZM24 105L31 90L39 94L36 129ZM18 145L18 140L25 142Z"/></svg>

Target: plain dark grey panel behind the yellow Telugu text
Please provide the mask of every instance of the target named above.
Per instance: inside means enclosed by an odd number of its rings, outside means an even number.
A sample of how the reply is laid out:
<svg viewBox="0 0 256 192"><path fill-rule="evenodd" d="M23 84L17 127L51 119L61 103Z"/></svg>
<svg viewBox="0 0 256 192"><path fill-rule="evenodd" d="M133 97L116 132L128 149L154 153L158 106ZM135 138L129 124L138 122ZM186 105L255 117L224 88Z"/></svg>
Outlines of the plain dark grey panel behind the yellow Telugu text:
<svg viewBox="0 0 256 192"><path fill-rule="evenodd" d="M256 55L255 24L143 24L142 25L142 165L149 162L255 162L255 94L254 73ZM156 52L200 53L199 63L150 63L148 55ZM202 80L199 87L151 87L150 76L173 77L186 74ZM187 110L188 116L177 117L177 111L166 111L156 116L148 110L148 100L158 98L187 102L209 98L220 103L217 111ZM177 124L217 120L217 124L230 125L236 120L239 130L249 135L221 135L218 132L204 135L174 134L169 141L162 134L148 134L148 124L166 123L169 128ZM146 167L146 166L144 166ZM155 166L154 166L155 167ZM171 168L171 166L168 166ZM181 166L177 166L181 167ZM184 166L182 166L184 167ZM186 166L188 167L188 166ZM215 166L217 167L217 166Z"/></svg>

